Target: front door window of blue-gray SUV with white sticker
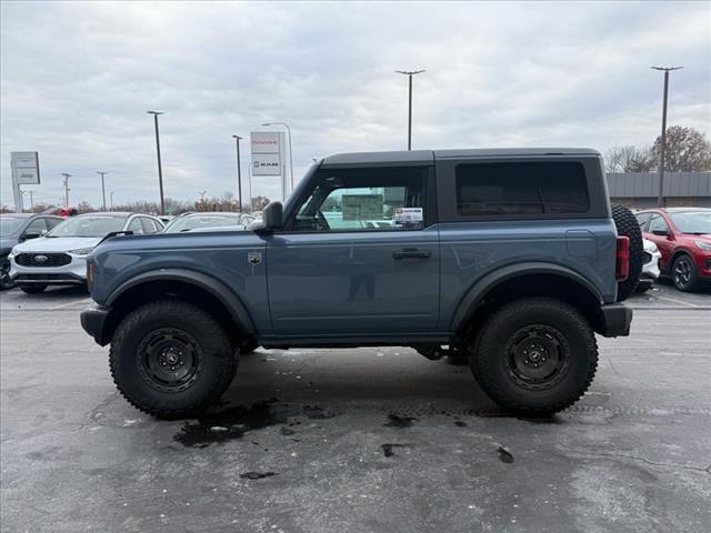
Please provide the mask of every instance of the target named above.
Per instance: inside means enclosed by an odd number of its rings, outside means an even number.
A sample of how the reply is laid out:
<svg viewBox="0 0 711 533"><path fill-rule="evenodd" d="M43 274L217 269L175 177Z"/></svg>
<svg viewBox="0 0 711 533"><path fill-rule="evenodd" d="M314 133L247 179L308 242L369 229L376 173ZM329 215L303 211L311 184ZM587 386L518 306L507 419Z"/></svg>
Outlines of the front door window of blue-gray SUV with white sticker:
<svg viewBox="0 0 711 533"><path fill-rule="evenodd" d="M323 170L301 202L291 231L421 230L425 221L427 170Z"/></svg>

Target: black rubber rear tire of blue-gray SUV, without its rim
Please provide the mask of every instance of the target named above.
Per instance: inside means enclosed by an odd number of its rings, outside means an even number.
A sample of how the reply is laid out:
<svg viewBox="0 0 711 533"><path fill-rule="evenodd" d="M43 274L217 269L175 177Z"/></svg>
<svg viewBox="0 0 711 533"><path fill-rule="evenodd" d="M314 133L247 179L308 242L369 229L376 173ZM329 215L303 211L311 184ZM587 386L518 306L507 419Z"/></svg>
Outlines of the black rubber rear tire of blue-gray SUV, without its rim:
<svg viewBox="0 0 711 533"><path fill-rule="evenodd" d="M521 385L511 370L510 345L527 330L552 332L568 348L563 370L543 386ZM503 305L484 323L471 352L470 366L483 391L502 408L524 416L549 415L572 405L588 390L598 368L598 345L585 318L571 305L548 298Z"/></svg>

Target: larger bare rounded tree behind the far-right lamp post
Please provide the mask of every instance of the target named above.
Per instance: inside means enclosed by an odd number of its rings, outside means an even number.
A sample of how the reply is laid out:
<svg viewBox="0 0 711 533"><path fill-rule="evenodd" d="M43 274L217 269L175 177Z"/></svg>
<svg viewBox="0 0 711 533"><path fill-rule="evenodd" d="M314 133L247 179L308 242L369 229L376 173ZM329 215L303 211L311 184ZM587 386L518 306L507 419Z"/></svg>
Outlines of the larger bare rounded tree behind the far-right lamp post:
<svg viewBox="0 0 711 533"><path fill-rule="evenodd" d="M654 165L661 158L661 135L654 141L651 155ZM694 172L711 170L711 143L700 131L682 125L667 129L664 170L669 172Z"/></svg>

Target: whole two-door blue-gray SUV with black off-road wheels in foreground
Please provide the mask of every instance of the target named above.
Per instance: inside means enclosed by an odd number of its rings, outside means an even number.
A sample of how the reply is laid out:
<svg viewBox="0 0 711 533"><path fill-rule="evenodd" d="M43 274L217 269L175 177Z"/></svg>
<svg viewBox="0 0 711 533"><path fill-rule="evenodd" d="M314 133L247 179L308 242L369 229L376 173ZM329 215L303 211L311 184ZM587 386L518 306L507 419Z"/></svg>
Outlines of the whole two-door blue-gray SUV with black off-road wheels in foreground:
<svg viewBox="0 0 711 533"><path fill-rule="evenodd" d="M250 231L108 239L81 323L156 415L216 402L258 345L449 354L500 405L549 414L589 388L595 333L629 334L624 211L594 150L337 154Z"/></svg>

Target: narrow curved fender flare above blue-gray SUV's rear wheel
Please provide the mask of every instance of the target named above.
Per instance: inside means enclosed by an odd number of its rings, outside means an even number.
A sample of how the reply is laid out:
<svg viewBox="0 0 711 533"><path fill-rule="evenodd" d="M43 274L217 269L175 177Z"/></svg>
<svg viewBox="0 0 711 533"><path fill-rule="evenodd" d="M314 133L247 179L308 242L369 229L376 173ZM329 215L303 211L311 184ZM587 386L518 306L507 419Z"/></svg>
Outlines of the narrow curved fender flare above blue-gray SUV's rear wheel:
<svg viewBox="0 0 711 533"><path fill-rule="evenodd" d="M582 285L583 289L587 289L600 304L603 303L600 291L598 291L598 289L595 289L595 286L585 278L567 266L537 261L510 264L489 272L469 289L464 298L459 302L457 311L454 311L454 315L450 324L450 331L458 331L465 323L489 291L504 281L529 274L553 274L568 278L569 280Z"/></svg>

